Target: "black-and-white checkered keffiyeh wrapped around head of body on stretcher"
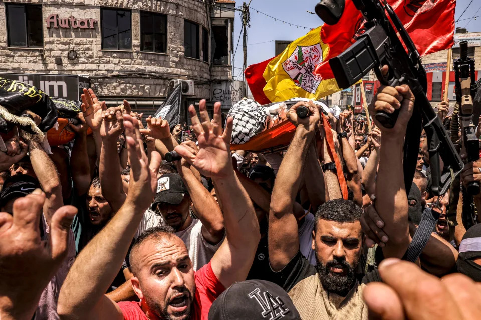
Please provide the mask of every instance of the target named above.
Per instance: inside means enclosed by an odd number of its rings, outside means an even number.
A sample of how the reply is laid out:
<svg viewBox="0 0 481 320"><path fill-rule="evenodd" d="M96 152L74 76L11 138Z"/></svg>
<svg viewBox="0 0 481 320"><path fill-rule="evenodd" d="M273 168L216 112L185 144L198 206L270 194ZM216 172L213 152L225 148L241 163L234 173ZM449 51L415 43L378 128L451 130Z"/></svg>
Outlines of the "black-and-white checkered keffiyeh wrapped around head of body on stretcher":
<svg viewBox="0 0 481 320"><path fill-rule="evenodd" d="M234 104L227 115L233 117L233 130L231 142L244 144L253 136L264 131L267 125L268 114L256 101L243 99Z"/></svg>

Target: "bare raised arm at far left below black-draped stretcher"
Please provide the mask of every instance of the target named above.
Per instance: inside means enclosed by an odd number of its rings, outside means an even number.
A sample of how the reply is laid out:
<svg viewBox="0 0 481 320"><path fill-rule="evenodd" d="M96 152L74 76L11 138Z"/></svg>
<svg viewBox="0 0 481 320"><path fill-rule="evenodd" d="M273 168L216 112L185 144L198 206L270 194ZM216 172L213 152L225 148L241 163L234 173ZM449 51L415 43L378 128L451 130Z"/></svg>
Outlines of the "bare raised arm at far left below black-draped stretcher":
<svg viewBox="0 0 481 320"><path fill-rule="evenodd" d="M44 216L50 226L52 215L64 205L57 168L40 143L29 141L30 161L42 190L45 192Z"/></svg>

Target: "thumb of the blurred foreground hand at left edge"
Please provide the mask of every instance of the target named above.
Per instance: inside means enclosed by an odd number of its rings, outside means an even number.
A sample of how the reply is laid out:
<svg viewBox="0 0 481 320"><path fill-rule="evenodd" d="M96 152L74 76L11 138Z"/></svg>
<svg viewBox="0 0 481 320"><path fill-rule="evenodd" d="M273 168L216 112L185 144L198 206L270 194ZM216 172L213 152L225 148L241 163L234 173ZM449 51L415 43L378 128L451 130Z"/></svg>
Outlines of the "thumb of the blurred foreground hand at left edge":
<svg viewBox="0 0 481 320"><path fill-rule="evenodd" d="M62 260L69 246L70 225L77 214L77 208L66 205L55 211L50 226L50 249L54 260Z"/></svg>

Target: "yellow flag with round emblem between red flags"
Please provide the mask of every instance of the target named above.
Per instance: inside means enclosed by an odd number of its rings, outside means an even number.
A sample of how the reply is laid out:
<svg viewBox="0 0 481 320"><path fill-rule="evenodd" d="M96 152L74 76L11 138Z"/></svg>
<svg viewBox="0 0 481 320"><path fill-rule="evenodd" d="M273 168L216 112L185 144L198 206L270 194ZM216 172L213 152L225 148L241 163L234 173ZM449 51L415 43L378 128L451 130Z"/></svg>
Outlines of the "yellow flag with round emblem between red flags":
<svg viewBox="0 0 481 320"><path fill-rule="evenodd" d="M340 91L335 79L322 79L314 74L316 66L329 52L321 41L321 26L293 41L283 53L267 65L263 91L271 102L302 97L318 100Z"/></svg>

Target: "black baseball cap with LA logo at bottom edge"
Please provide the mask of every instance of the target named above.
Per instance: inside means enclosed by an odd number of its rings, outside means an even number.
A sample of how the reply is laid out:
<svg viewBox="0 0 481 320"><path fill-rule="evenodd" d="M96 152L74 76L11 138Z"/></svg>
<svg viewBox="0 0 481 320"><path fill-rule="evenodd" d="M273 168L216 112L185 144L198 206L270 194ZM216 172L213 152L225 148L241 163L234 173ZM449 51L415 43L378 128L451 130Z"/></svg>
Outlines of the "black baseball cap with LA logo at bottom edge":
<svg viewBox="0 0 481 320"><path fill-rule="evenodd" d="M208 320L300 320L291 298L279 285L264 280L232 284L212 303Z"/></svg>

